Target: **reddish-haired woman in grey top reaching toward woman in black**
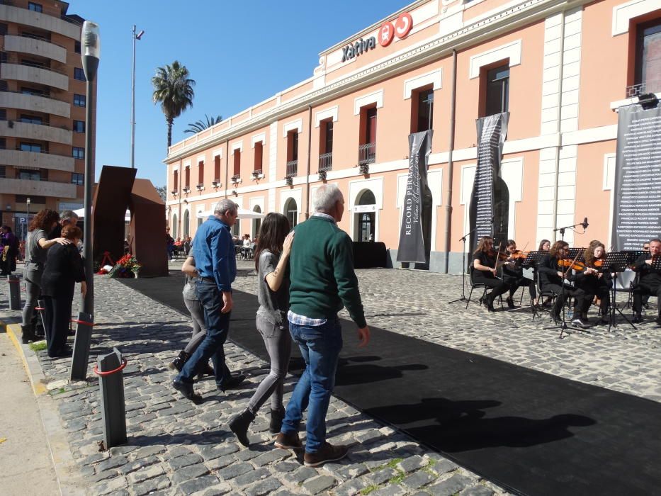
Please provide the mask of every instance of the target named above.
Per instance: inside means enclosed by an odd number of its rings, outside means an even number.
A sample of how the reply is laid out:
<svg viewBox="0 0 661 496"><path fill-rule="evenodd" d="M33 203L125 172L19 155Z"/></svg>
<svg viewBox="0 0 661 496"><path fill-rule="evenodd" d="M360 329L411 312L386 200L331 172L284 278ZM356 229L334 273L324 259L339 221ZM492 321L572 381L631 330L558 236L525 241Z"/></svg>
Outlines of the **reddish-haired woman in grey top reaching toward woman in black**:
<svg viewBox="0 0 661 496"><path fill-rule="evenodd" d="M23 307L21 323L23 344L36 340L33 314L41 291L41 275L46 263L47 249L54 244L71 243L64 237L48 239L48 235L55 229L57 222L60 222L60 214L55 210L45 208L34 216L28 226L25 267L23 268L23 279L26 281L26 305Z"/></svg>

